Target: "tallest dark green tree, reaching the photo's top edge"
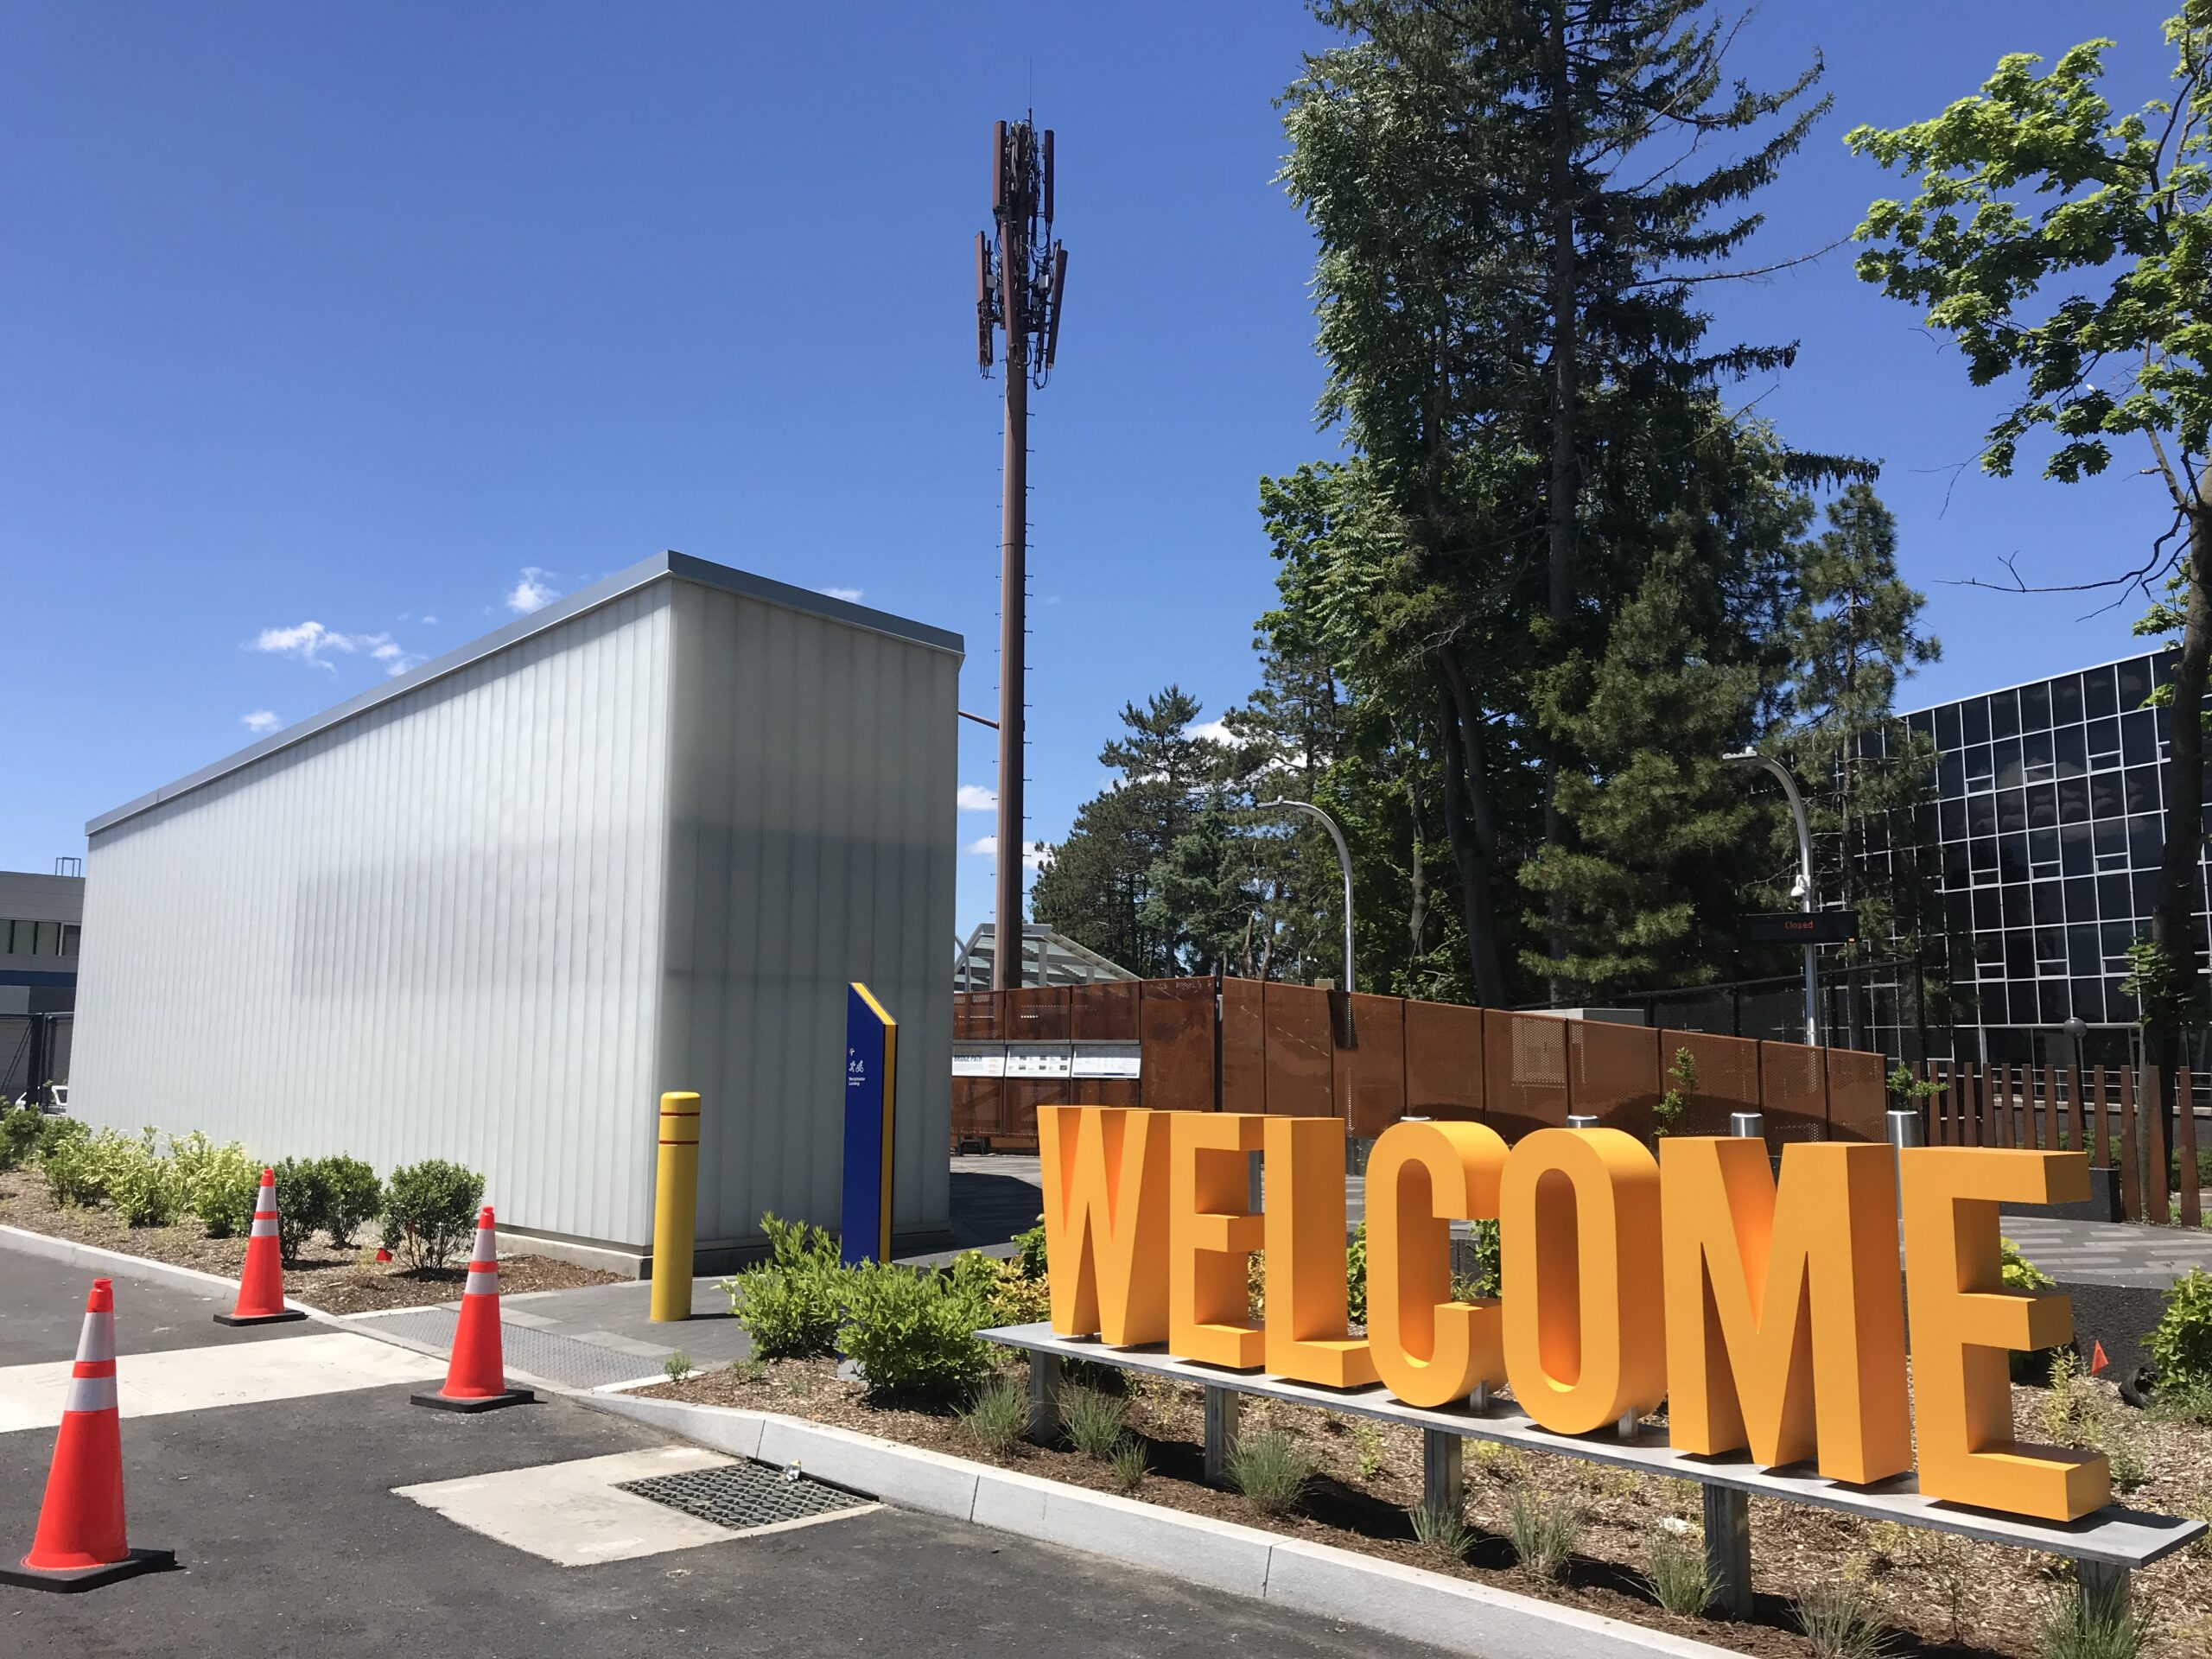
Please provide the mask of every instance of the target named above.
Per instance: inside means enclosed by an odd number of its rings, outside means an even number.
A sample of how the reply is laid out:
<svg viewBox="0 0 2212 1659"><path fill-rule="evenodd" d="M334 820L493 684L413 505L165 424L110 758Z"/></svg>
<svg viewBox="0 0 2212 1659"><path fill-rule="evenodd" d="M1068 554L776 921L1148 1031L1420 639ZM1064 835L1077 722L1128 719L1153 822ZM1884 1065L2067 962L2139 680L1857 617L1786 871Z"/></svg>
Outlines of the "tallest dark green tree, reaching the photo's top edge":
<svg viewBox="0 0 2212 1659"><path fill-rule="evenodd" d="M1792 358L1708 338L1692 285L1730 274L1759 226L1747 201L1820 106L1798 106L1812 73L1772 95L1730 84L1728 31L1697 0L1316 15L1345 40L1285 95L1283 177L1321 243L1321 416L1356 460L1270 480L1263 513L1298 562L1285 591L1349 646L1356 699L1433 732L1473 995L1511 1000L1531 931L1564 993L1604 969L1577 949L1597 889L1635 885L1599 869L1613 821L1577 814L1606 801L1626 821L1615 790L1641 781L1579 748L1597 728L1575 699L1615 679L1613 626L1672 533L1655 526L1710 511L1699 484L1734 465L1719 389ZM1683 146L1712 139L1736 155L1690 164ZM1714 648L1734 653L1743 624Z"/></svg>

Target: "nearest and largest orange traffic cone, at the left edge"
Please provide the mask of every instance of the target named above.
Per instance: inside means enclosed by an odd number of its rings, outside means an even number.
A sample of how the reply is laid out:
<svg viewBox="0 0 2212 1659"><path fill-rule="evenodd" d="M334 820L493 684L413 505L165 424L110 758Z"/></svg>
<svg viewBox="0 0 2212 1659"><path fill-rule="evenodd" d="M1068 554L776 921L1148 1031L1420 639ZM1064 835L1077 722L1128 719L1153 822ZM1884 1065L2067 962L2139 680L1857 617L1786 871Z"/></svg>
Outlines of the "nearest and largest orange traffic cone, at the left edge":
<svg viewBox="0 0 2212 1659"><path fill-rule="evenodd" d="M62 1433L46 1471L38 1535L20 1566L0 1566L0 1584L38 1590L91 1590L133 1573L175 1566L173 1551L124 1542L124 1438L115 1411L115 1287L95 1279L84 1298L84 1334L62 1402Z"/></svg>

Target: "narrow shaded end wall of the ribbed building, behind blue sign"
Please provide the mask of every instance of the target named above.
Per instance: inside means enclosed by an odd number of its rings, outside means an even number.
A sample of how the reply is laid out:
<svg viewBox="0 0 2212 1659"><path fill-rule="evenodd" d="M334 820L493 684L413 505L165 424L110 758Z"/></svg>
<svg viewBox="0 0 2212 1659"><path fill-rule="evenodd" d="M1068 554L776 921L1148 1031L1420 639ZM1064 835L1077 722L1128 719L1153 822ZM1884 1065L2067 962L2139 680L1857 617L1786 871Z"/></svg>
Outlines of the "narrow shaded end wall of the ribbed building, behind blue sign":
<svg viewBox="0 0 2212 1659"><path fill-rule="evenodd" d="M699 1239L836 1225L845 984L898 1020L891 1221L947 1225L960 659L675 597L661 1088L703 1097Z"/></svg>

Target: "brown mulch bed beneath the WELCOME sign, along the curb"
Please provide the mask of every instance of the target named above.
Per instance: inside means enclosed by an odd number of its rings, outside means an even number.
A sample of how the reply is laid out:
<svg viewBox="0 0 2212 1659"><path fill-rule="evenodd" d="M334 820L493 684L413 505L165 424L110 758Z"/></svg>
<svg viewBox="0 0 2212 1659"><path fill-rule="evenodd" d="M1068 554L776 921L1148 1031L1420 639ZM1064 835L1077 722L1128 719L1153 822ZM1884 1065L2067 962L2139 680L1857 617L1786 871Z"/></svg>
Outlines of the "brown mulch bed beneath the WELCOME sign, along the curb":
<svg viewBox="0 0 2212 1659"><path fill-rule="evenodd" d="M1022 1376L1009 1369L1006 1376ZM1121 1374L1110 1374L1121 1376ZM1110 1387L1110 1378L1108 1378ZM1243 1522L1321 1544L1383 1555L1431 1573L1493 1584L1522 1595L1626 1619L1655 1630L1710 1641L1736 1652L1807 1659L1812 1644L1794 1621L1794 1599L1838 1579L1856 1582L1889 1626L1896 1659L1933 1655L2004 1655L2033 1659L2044 1608L2070 1582L2048 1555L1973 1544L1947 1533L1863 1522L1820 1509L1752 1500L1754 1621L1683 1619L1659 1608L1644 1579L1650 1540L1672 1522L1701 1526L1699 1486L1632 1471L1599 1469L1573 1458L1524 1453L1469 1442L1467 1515L1475 1544L1467 1562L1447 1562L1413 1537L1407 1509L1420 1502L1420 1431L1272 1400L1243 1402L1243 1427L1283 1429L1307 1444L1318 1475L1292 1515L1267 1515L1252 1500L1203 1484L1203 1394L1159 1378L1128 1378L1128 1427L1150 1451L1150 1473L1137 1498L1219 1520ZM2124 1411L2117 1396L2110 1409ZM900 1440L956 1458L1022 1469L1095 1491L1119 1491L1110 1464L1071 1449L1022 1444L995 1453L978 1444L951 1413L872 1407L863 1385L841 1383L834 1360L772 1360L701 1371L681 1383L639 1389L666 1400L783 1411L860 1433ZM2015 1389L2022 1440L2046 1440L2044 1389ZM2143 1451L2146 1480L2121 1502L2168 1515L2205 1515L2212 1506L2212 1431L2126 1416ZM1582 1513L1582 1540L1564 1579L1542 1579L1515 1566L1506 1511L1515 1491L1537 1489L1571 1500ZM2146 1626L2143 1655L2212 1655L2212 1551L2197 1548L2146 1568L2135 1579L2135 1608Z"/></svg>

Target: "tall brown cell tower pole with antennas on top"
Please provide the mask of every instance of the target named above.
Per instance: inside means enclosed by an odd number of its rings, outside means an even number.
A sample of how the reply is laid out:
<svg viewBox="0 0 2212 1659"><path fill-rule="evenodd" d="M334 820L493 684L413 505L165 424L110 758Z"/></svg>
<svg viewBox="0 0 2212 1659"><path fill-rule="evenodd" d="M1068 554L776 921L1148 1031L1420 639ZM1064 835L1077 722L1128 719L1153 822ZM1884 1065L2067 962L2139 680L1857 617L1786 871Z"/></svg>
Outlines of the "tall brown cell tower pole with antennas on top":
<svg viewBox="0 0 2212 1659"><path fill-rule="evenodd" d="M1000 500L998 604L998 905L991 989L1022 982L1022 692L1029 679L1029 387L1044 387L1060 345L1068 250L1053 241L1053 128L991 126L991 219L975 232L975 367L991 376L1006 334L1006 469Z"/></svg>

